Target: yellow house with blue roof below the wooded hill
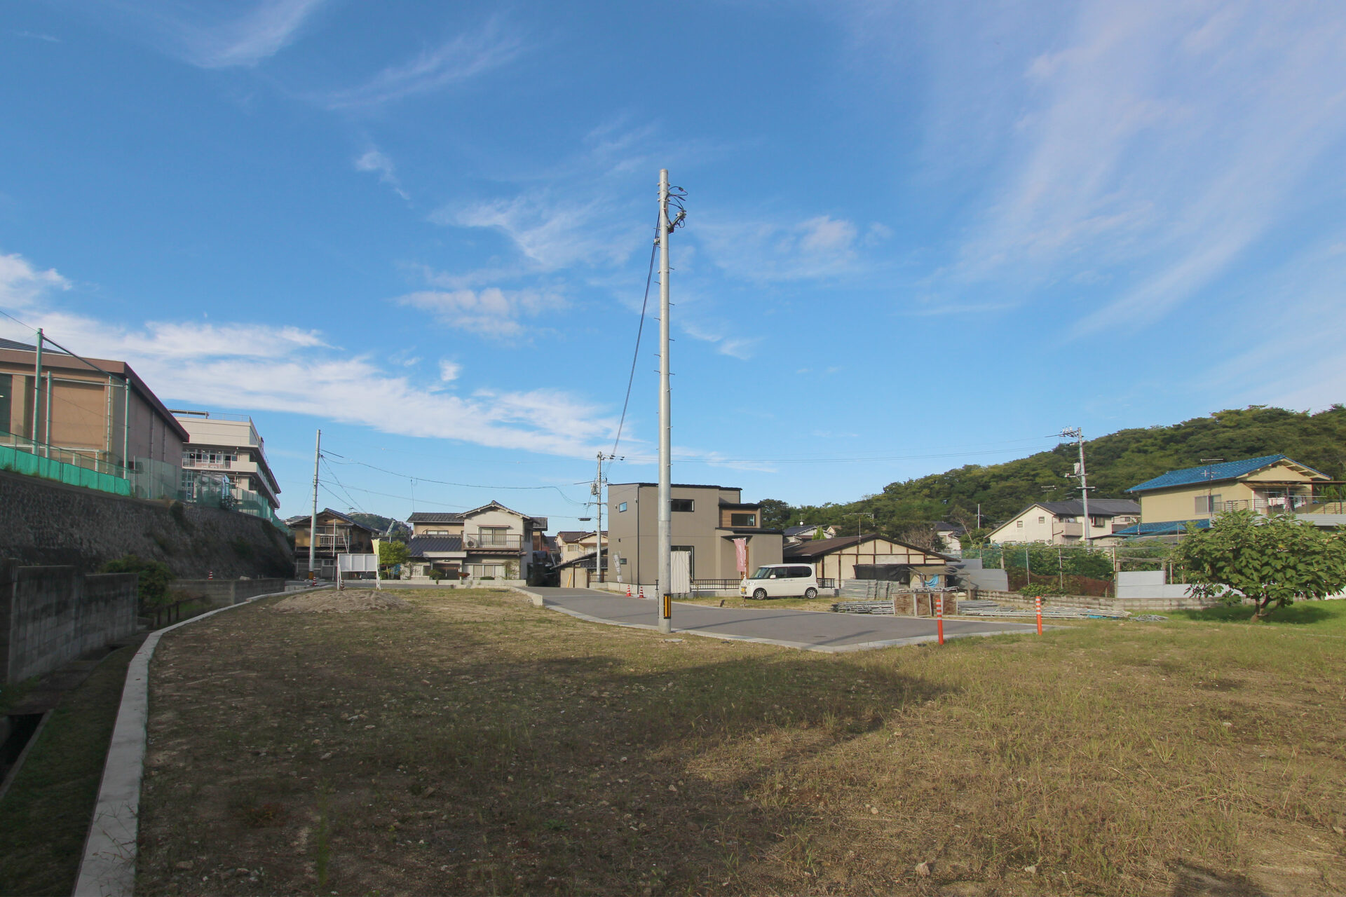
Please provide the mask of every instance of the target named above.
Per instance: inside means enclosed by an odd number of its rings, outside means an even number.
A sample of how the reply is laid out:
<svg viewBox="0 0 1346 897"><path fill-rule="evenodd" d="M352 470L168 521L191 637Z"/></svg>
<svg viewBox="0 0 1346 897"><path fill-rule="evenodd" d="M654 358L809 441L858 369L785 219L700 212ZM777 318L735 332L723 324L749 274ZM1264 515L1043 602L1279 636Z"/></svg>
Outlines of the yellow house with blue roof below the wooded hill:
<svg viewBox="0 0 1346 897"><path fill-rule="evenodd" d="M1264 455L1168 471L1127 492L1140 500L1140 533L1158 523L1210 520L1222 511L1261 514L1342 514L1342 502L1324 502L1322 490L1338 484L1284 455Z"/></svg>

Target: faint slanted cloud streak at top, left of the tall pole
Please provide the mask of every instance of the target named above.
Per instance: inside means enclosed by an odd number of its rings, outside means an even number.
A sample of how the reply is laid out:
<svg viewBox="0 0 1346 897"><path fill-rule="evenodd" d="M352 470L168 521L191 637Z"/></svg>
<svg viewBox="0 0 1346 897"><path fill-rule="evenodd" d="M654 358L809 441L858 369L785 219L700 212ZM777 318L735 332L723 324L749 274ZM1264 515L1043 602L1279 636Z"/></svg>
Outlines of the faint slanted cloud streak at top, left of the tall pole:
<svg viewBox="0 0 1346 897"><path fill-rule="evenodd" d="M485 74L511 62L522 50L520 36L495 17L476 31L456 35L408 62L384 69L359 86L328 93L322 100L332 109L377 106Z"/></svg>

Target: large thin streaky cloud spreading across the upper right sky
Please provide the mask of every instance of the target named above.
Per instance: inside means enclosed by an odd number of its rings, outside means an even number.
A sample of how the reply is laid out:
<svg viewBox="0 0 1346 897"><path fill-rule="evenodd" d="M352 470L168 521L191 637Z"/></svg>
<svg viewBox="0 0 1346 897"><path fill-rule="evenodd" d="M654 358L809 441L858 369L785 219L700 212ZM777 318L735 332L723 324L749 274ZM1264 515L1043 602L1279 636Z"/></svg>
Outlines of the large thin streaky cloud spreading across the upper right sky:
<svg viewBox="0 0 1346 897"><path fill-rule="evenodd" d="M1018 90L1001 105L1018 117L992 121L991 141L984 117L969 116L977 134L945 122L945 145L980 139L1000 161L931 284L969 308L987 305L987 289L1000 304L1073 284L1089 297L1074 336L1133 331L1210 300L1333 176L1346 144L1346 20L1311 3L1070 11L1050 48L1016 23L966 48L989 52L995 39L1000 81ZM961 105L988 79L946 85L940 101Z"/></svg>

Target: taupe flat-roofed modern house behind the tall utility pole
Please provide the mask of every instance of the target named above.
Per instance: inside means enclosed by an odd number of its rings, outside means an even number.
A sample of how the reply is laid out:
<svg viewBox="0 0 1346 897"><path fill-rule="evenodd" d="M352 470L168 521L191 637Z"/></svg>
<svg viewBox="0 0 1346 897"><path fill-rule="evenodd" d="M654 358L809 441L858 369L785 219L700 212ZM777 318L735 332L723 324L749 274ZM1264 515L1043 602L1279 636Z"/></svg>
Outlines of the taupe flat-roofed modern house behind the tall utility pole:
<svg viewBox="0 0 1346 897"><path fill-rule="evenodd" d="M658 580L658 483L612 483L607 487L604 551L611 553L611 580L656 586ZM740 580L735 539L747 547L748 572L779 563L781 530L759 526L762 506L743 502L743 490L674 483L673 550L686 551L692 580Z"/></svg>

